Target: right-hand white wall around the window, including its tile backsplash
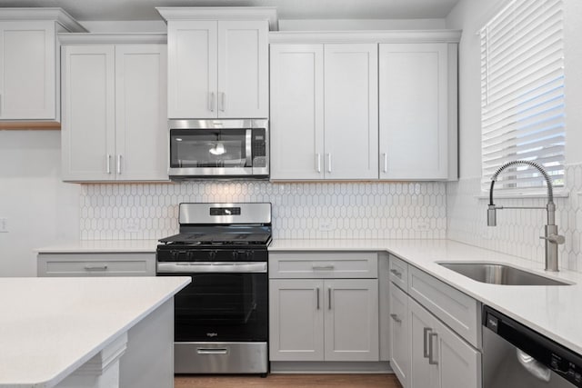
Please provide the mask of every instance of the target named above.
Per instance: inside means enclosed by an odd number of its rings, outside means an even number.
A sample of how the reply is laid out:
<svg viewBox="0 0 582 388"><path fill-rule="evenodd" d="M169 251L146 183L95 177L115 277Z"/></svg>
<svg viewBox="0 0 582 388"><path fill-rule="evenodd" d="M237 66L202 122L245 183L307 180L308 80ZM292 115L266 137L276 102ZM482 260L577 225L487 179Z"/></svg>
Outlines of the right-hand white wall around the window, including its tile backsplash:
<svg viewBox="0 0 582 388"><path fill-rule="evenodd" d="M545 212L504 210L497 227L487 227L487 199L481 197L480 43L477 31L508 0L460 0L447 28L462 29L459 45L459 164L457 183L447 184L447 237L528 260L544 260ZM560 265L582 271L582 2L564 0L567 172L566 198L557 199L557 225L566 235ZM505 206L543 206L545 198L496 199Z"/></svg>

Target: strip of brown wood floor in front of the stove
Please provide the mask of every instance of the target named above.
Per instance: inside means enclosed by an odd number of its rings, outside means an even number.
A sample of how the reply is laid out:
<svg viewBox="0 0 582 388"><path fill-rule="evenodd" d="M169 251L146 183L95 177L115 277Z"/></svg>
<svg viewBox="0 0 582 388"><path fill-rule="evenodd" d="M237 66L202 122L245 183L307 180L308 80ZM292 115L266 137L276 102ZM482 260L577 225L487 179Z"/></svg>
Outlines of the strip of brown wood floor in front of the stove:
<svg viewBox="0 0 582 388"><path fill-rule="evenodd" d="M175 388L402 388L394 374L181 375Z"/></svg>

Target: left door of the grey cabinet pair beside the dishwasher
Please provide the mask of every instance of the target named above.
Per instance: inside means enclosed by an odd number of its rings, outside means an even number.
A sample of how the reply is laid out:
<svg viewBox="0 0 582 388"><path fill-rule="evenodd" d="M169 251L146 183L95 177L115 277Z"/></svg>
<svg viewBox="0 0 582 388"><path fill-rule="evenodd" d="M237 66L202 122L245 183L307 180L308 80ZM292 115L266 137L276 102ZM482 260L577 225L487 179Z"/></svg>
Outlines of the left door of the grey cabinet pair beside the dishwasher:
<svg viewBox="0 0 582 388"><path fill-rule="evenodd" d="M437 333L436 319L412 298L408 298L408 318L410 321L408 387L437 388L437 365L428 362L430 353L428 340L431 333Z"/></svg>

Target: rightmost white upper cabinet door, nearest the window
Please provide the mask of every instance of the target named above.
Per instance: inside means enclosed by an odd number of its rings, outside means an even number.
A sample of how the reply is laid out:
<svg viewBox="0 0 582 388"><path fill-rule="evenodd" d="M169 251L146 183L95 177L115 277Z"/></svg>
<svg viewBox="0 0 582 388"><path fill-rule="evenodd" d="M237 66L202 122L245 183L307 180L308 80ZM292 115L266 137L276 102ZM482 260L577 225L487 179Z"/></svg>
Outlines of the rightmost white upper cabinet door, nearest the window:
<svg viewBox="0 0 582 388"><path fill-rule="evenodd" d="M380 179L447 179L447 44L379 50Z"/></svg>

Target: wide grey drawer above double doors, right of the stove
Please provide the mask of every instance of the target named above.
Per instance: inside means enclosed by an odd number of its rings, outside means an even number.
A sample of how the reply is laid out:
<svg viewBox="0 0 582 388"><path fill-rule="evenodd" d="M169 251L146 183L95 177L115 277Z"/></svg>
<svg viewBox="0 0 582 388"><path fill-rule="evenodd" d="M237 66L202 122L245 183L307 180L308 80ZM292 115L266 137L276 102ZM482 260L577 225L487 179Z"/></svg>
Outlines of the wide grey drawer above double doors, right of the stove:
<svg viewBox="0 0 582 388"><path fill-rule="evenodd" d="M269 254L269 277L276 278L377 278L376 253Z"/></svg>

